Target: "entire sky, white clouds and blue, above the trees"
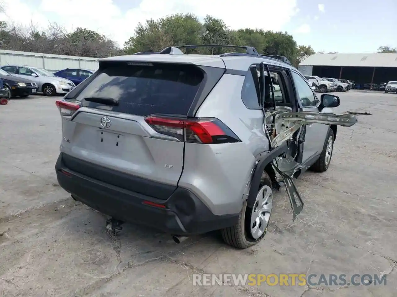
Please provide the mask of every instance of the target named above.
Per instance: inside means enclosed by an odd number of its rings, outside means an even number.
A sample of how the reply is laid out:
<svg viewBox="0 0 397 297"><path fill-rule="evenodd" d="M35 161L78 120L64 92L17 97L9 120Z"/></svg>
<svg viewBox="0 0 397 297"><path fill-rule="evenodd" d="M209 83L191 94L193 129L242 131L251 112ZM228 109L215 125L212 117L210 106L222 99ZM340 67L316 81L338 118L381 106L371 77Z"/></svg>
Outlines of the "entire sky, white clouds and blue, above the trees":
<svg viewBox="0 0 397 297"><path fill-rule="evenodd" d="M139 22L173 13L206 14L224 19L231 29L261 28L293 34L298 44L315 51L376 52L397 47L397 0L3 0L0 20L66 30L85 27L116 40L120 46ZM250 3L250 4L248 4ZM243 4L243 5L242 5ZM254 11L253 11L254 8ZM262 12L262 13L258 13ZM254 15L253 13L256 13ZM259 17L258 17L259 15Z"/></svg>

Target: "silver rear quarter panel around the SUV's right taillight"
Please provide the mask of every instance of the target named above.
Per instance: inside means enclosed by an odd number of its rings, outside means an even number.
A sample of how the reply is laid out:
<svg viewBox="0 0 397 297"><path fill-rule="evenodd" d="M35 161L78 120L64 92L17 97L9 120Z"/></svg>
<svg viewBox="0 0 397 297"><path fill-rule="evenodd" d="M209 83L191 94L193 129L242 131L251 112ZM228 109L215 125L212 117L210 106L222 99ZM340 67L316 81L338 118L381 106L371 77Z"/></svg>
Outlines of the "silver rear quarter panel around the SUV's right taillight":
<svg viewBox="0 0 397 297"><path fill-rule="evenodd" d="M198 109L197 117L218 118L240 143L185 144L178 185L188 188L216 215L239 213L256 155L269 149L262 110L249 110L241 100L245 76L225 74Z"/></svg>

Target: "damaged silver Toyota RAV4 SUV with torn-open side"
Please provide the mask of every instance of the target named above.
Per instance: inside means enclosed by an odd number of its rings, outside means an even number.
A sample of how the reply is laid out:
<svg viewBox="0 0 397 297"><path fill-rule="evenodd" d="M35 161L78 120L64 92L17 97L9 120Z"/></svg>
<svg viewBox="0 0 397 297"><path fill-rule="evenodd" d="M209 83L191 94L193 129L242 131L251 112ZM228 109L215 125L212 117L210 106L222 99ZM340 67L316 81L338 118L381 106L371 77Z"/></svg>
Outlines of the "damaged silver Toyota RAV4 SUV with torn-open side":
<svg viewBox="0 0 397 297"><path fill-rule="evenodd" d="M285 57L180 49L195 47L100 59L56 101L58 182L112 232L135 222L181 242L221 230L246 248L266 234L280 185L294 217L302 210L293 178L326 171L337 126L357 118L330 113L339 98L319 100Z"/></svg>

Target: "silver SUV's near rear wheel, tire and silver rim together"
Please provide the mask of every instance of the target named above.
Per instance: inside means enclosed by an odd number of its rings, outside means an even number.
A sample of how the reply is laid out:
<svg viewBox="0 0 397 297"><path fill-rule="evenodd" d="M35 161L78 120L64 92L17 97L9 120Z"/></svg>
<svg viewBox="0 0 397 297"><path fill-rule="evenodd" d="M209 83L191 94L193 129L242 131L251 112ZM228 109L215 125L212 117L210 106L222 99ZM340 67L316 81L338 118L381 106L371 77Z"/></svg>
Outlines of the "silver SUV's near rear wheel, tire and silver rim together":
<svg viewBox="0 0 397 297"><path fill-rule="evenodd" d="M224 241L230 246L245 249L260 242L266 235L272 214L272 181L264 171L260 179L254 207L247 207L247 201L239 215L237 223L221 230Z"/></svg>

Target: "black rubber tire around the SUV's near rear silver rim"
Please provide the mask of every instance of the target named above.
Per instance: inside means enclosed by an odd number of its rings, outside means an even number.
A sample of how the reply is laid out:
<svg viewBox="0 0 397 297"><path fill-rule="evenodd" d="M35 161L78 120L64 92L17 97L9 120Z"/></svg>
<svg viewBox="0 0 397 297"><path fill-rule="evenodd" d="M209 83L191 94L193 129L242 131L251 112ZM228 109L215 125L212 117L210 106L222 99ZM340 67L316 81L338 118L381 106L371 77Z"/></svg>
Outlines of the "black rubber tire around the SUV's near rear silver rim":
<svg viewBox="0 0 397 297"><path fill-rule="evenodd" d="M258 190L262 188L264 185L272 188L272 180L270 179L266 171L262 173ZM249 231L249 228L251 227L250 226L251 212L252 212L252 208L247 207L247 200L244 201L243 209L241 209L241 213L239 215L239 219L237 223L232 227L228 227L220 230L222 234L222 238L227 244L233 247L237 247L239 249L245 249L247 247L257 244L262 240L262 238L264 238L264 236L266 235L267 226L265 228L265 231L259 238L254 239L251 236ZM271 215L272 212L270 212L270 217ZM269 217L269 221L270 221L270 217Z"/></svg>

